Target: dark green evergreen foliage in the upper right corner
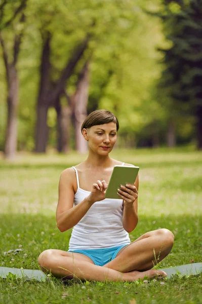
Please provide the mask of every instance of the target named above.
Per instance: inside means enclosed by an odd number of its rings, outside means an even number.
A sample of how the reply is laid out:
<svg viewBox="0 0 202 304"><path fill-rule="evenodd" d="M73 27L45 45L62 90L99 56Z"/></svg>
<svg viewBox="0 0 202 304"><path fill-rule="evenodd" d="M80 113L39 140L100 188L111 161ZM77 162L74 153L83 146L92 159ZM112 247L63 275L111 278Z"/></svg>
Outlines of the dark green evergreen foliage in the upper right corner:
<svg viewBox="0 0 202 304"><path fill-rule="evenodd" d="M190 102L191 106L187 108L190 110L199 102L201 92L202 25L199 20L202 10L201 3L197 0L182 2L178 7L180 9L173 13L168 6L165 19L165 22L172 24L167 29L172 47L164 51L167 68L163 73L162 83L169 87L170 95L176 100Z"/></svg>

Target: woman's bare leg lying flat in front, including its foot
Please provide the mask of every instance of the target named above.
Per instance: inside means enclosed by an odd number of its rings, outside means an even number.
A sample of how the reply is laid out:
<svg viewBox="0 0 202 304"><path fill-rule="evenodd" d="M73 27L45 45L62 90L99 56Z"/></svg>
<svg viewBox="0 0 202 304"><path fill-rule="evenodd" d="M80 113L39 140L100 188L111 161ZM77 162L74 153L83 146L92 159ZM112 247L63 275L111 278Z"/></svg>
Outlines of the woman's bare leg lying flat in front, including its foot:
<svg viewBox="0 0 202 304"><path fill-rule="evenodd" d="M38 257L38 263L44 272L49 271L56 277L76 278L81 281L135 281L139 278L143 279L145 276L149 278L156 276L156 272L154 273L153 270L122 273L95 265L89 257L83 254L57 249L43 251ZM165 273L159 272L159 274Z"/></svg>

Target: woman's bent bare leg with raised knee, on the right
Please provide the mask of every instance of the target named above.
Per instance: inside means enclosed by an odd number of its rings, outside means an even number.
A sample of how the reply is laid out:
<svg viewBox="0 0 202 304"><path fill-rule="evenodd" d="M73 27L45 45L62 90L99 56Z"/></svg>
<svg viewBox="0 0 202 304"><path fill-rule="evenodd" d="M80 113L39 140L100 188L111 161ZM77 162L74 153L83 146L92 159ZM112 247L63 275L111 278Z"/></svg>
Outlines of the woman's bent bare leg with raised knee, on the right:
<svg viewBox="0 0 202 304"><path fill-rule="evenodd" d="M173 243L174 235L168 229L147 232L121 249L116 258L103 267L124 273L150 270L169 254Z"/></svg>

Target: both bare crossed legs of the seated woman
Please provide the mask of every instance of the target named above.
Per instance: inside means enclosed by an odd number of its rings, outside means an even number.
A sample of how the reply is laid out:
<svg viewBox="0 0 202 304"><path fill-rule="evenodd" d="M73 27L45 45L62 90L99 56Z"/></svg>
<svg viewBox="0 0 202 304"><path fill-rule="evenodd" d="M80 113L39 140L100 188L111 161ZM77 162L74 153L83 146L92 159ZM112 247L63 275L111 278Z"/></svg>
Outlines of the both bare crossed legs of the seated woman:
<svg viewBox="0 0 202 304"><path fill-rule="evenodd" d="M74 277L95 281L134 281L145 276L166 275L151 269L166 257L173 247L174 235L167 229L148 232L122 248L115 259L103 267L95 265L86 255L57 249L43 251L38 257L42 271L57 277Z"/></svg>

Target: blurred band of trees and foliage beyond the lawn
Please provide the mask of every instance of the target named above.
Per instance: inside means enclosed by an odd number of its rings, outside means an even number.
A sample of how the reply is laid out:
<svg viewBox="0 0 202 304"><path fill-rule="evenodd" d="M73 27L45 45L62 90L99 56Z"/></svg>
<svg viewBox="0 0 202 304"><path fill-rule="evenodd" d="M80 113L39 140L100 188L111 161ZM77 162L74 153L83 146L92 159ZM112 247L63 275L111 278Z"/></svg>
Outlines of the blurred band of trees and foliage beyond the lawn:
<svg viewBox="0 0 202 304"><path fill-rule="evenodd" d="M200 1L4 1L0 150L85 153L98 108L117 146L202 147Z"/></svg>

